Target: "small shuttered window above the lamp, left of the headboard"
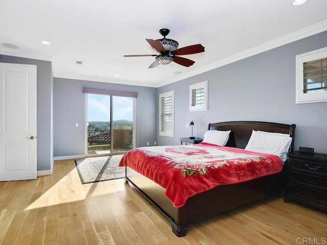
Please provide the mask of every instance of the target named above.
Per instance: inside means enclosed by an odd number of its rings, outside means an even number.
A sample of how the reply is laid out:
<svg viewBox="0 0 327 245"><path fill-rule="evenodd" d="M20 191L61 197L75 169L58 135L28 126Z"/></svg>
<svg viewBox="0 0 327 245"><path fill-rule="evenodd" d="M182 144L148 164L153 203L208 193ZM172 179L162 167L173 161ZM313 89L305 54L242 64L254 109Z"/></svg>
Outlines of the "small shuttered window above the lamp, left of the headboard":
<svg viewBox="0 0 327 245"><path fill-rule="evenodd" d="M207 110L208 81L190 85L190 111Z"/></svg>

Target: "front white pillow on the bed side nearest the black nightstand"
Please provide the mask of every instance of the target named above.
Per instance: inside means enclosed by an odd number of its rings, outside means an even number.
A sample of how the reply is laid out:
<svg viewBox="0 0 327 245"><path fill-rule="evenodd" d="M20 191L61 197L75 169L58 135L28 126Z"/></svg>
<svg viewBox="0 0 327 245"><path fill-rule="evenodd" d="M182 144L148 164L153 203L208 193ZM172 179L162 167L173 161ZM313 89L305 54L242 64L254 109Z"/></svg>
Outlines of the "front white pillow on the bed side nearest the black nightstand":
<svg viewBox="0 0 327 245"><path fill-rule="evenodd" d="M244 150L277 155L283 161L286 161L286 153L291 143L292 137L289 135L252 130L251 137Z"/></svg>

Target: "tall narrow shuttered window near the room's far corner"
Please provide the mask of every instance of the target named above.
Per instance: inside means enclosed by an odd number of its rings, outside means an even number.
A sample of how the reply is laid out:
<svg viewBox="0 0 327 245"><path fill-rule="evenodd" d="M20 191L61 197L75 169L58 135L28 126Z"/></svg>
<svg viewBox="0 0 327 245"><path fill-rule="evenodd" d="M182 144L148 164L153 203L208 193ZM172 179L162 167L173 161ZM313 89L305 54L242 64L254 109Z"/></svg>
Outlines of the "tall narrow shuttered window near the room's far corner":
<svg viewBox="0 0 327 245"><path fill-rule="evenodd" d="M174 90L159 94L159 135L174 137Z"/></svg>

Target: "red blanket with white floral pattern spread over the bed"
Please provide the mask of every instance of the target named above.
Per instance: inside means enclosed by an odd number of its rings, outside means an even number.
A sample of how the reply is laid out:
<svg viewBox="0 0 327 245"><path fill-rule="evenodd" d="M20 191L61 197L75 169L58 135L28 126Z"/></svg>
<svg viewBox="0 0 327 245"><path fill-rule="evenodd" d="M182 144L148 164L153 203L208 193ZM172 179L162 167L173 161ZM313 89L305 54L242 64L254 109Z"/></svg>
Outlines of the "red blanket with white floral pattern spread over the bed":
<svg viewBox="0 0 327 245"><path fill-rule="evenodd" d="M119 166L128 166L166 188L174 207L218 185L235 184L279 173L276 155L249 152L209 143L135 148Z"/></svg>

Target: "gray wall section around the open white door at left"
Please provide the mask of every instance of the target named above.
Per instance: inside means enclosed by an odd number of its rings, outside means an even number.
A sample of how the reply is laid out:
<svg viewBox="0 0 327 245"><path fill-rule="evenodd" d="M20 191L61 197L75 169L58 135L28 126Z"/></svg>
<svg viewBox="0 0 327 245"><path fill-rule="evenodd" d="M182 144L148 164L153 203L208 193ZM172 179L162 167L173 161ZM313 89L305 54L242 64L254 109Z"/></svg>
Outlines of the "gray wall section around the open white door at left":
<svg viewBox="0 0 327 245"><path fill-rule="evenodd" d="M6 55L0 55L0 62L37 65L37 170L50 170L53 164L52 64Z"/></svg>

